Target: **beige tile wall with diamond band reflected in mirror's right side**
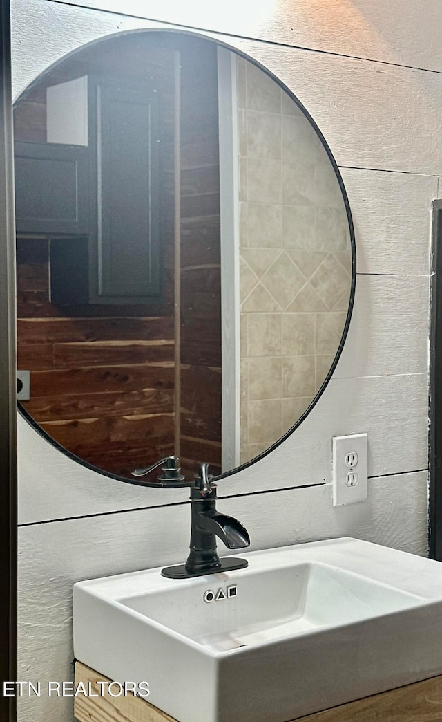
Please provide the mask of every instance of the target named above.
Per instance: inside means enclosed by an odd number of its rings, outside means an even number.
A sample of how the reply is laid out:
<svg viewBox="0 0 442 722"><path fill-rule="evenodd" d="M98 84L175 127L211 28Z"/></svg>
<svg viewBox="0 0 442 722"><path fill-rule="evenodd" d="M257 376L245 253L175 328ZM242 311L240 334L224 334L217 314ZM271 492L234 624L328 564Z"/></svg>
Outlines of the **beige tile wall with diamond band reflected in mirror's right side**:
<svg viewBox="0 0 442 722"><path fill-rule="evenodd" d="M347 316L351 252L340 186L309 121L242 58L237 87L244 462L322 385Z"/></svg>

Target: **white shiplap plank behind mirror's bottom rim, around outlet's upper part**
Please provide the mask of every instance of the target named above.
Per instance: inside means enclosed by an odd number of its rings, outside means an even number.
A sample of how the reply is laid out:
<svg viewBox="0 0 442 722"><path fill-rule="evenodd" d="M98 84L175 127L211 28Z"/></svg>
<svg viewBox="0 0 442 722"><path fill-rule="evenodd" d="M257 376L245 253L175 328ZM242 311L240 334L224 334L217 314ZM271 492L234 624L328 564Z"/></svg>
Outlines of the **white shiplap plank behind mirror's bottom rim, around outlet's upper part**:
<svg viewBox="0 0 442 722"><path fill-rule="evenodd" d="M340 409L337 414L337 409ZM389 434L386 434L386 415ZM218 495L330 482L332 437L368 433L368 475L428 466L425 373L337 378L299 430L261 461L219 482ZM140 490L80 467L19 419L21 523L186 500L186 490ZM311 466L311 457L316 462Z"/></svg>

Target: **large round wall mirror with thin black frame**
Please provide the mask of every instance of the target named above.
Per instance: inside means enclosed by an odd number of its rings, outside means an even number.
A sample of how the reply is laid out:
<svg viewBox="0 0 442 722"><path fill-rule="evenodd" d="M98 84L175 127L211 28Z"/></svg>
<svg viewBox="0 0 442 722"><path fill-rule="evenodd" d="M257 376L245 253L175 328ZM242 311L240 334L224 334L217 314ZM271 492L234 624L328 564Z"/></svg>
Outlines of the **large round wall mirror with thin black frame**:
<svg viewBox="0 0 442 722"><path fill-rule="evenodd" d="M339 171L299 101L186 32L112 35L14 108L19 401L128 481L228 474L324 390L353 306Z"/></svg>

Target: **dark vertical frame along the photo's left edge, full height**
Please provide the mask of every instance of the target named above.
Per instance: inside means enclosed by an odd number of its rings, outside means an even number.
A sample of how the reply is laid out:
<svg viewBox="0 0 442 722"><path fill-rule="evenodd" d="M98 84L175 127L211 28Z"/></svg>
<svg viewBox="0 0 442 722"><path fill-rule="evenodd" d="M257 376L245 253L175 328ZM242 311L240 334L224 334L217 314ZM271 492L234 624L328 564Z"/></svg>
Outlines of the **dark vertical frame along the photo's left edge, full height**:
<svg viewBox="0 0 442 722"><path fill-rule="evenodd" d="M17 679L17 396L9 0L0 0L0 682ZM3 687L3 684L1 684ZM0 690L0 719L17 719Z"/></svg>

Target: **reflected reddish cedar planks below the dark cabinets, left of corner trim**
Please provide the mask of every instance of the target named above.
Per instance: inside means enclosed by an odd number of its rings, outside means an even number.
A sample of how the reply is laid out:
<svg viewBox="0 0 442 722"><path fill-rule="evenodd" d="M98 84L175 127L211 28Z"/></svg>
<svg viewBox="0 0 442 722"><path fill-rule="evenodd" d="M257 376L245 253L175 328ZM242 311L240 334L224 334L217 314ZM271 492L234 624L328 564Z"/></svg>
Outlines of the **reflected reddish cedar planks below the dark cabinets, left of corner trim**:
<svg viewBox="0 0 442 722"><path fill-rule="evenodd" d="M172 453L171 303L156 309L167 316L149 317L143 305L57 308L48 266L48 240L17 241L18 367L31 371L32 394L23 406L58 443L114 474Z"/></svg>

